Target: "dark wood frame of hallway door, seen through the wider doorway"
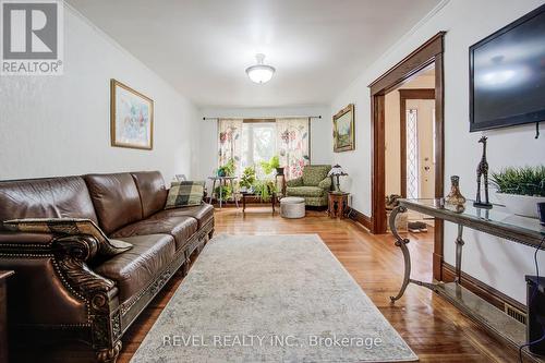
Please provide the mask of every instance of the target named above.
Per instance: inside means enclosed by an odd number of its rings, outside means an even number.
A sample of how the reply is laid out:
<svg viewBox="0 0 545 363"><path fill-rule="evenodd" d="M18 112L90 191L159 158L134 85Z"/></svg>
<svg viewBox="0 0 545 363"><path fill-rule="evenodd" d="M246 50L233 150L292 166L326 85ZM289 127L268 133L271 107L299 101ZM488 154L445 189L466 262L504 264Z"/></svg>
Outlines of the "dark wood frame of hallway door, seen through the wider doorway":
<svg viewBox="0 0 545 363"><path fill-rule="evenodd" d="M399 147L401 161L401 196L407 197L407 100L435 99L434 88L399 89Z"/></svg>

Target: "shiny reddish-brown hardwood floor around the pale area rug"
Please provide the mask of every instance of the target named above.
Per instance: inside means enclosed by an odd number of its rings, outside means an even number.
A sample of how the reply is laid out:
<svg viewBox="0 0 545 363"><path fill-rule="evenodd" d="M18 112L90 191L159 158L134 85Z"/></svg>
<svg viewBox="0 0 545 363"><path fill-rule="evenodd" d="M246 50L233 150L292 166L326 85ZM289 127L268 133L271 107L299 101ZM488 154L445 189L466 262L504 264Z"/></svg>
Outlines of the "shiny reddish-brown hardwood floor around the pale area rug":
<svg viewBox="0 0 545 363"><path fill-rule="evenodd" d="M401 252L389 234L373 235L351 220L330 219L323 211L307 211L289 220L270 207L216 210L216 233L292 234L317 233L347 270L378 306L390 324L420 356L421 362L514 362L506 349L476 324L429 290L409 286L404 297L390 305L403 269ZM433 231L411 234L413 277L432 278ZM174 277L123 338L118 362L129 362L154 322L181 282Z"/></svg>

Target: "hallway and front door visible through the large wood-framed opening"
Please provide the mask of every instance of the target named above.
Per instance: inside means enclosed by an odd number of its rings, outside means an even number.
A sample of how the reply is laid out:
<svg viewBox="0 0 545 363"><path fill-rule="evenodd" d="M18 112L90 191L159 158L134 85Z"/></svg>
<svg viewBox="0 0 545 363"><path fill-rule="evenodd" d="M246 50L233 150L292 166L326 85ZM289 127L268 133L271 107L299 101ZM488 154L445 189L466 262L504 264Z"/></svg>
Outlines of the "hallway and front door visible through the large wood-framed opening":
<svg viewBox="0 0 545 363"><path fill-rule="evenodd" d="M435 69L429 66L386 94L386 195L403 198L435 197ZM410 227L433 226L433 219L409 211Z"/></svg>

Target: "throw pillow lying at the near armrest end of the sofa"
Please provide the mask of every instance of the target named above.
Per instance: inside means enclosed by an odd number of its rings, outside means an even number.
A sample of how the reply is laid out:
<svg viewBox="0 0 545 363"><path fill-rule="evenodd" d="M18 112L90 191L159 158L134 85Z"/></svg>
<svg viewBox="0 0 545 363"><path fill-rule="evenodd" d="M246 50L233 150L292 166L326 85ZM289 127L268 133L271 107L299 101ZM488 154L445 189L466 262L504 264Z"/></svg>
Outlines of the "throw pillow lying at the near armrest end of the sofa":
<svg viewBox="0 0 545 363"><path fill-rule="evenodd" d="M52 233L62 235L88 234L98 241L98 253L104 256L113 256L131 250L133 246L129 242L109 239L90 219L25 218L7 220L3 225L5 228L17 232Z"/></svg>

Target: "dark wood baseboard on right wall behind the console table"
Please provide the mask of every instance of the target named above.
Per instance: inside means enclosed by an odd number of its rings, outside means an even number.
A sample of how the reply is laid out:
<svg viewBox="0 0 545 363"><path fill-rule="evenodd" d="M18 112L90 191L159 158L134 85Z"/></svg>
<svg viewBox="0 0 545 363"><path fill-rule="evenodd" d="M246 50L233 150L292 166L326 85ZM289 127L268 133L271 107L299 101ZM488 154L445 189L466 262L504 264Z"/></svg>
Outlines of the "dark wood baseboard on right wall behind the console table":
<svg viewBox="0 0 545 363"><path fill-rule="evenodd" d="M456 277L456 269L455 266L447 264L446 262L443 262L443 268L441 268L441 275L443 275L443 281L445 282L450 282L455 280ZM471 292L477 294L482 299L486 300L488 303L493 304L497 308L504 311L505 310L505 304L509 304L513 307L517 307L521 312L526 313L528 308L524 304L520 303L519 301L509 298L501 291L498 291L494 289L493 287L484 283L483 281L465 274L462 271L462 286L470 290Z"/></svg>

